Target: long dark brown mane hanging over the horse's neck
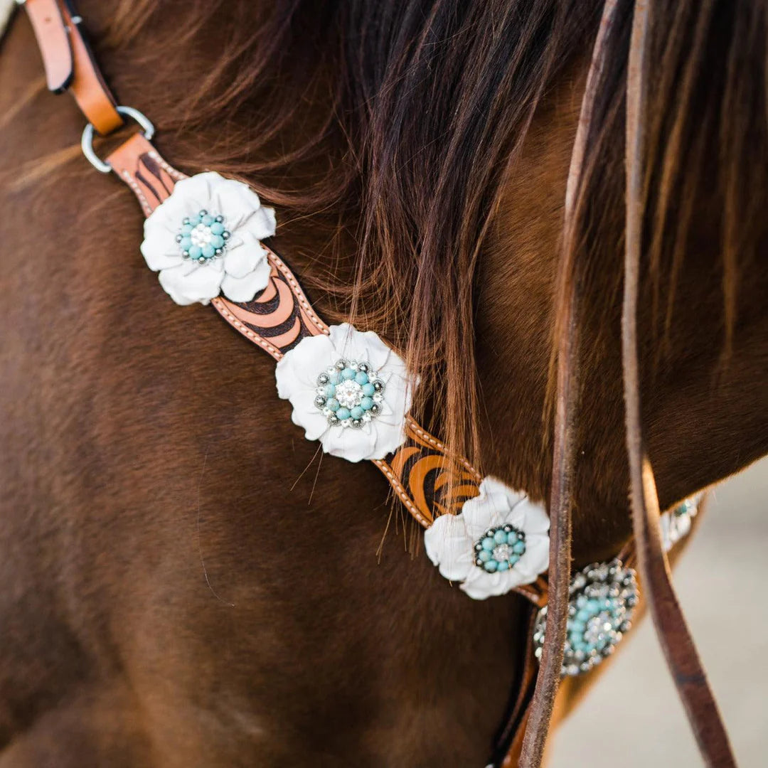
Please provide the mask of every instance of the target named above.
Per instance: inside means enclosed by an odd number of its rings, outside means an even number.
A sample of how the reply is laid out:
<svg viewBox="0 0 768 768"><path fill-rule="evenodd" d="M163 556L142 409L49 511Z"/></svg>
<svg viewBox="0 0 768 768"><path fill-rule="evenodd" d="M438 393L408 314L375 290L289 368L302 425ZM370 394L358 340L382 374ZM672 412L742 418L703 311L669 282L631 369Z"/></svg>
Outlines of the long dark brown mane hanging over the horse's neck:
<svg viewBox="0 0 768 768"><path fill-rule="evenodd" d="M535 110L591 47L601 2L286 0L254 9L230 0L227 14L221 5L180 7L164 66L183 67L196 55L179 39L199 39L205 25L226 24L229 42L206 78L184 94L163 94L161 127L187 134L220 127L204 161L190 153L187 167L204 162L239 175L288 220L318 222L327 233L319 239L322 265L316 254L304 282L332 297L337 316L382 330L405 351L425 382L418 415L429 422L423 411L439 402L437 431L477 465L484 418L474 355L478 254L492 227L504 225L495 219L498 203ZM682 263L697 256L703 237L692 223L704 214L707 239L719 243L726 356L740 273L766 237L766 5L652 4L642 300L653 307L656 362L674 339ZM614 296L621 292L633 7L624 0L617 9L577 184L571 252L561 256L574 260L571 279L586 295L606 273L615 276ZM122 0L106 44L131 45L158 13L150 0ZM248 115L247 130L234 114ZM290 146L281 138L288 127ZM351 255L342 234L353 237ZM567 290L561 284L553 296L551 382ZM585 303L595 314L585 322L599 322L609 303Z"/></svg>

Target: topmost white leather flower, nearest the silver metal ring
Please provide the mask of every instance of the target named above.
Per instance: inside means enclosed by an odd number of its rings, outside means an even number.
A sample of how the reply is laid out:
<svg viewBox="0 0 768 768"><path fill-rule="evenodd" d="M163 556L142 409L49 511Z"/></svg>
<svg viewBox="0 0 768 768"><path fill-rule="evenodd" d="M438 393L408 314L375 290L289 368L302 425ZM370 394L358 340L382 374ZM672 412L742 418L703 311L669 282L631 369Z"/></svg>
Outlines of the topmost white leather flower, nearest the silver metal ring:
<svg viewBox="0 0 768 768"><path fill-rule="evenodd" d="M177 182L144 222L141 253L177 304L207 304L220 292L250 301L269 280L260 240L274 233L273 208L247 184L210 171Z"/></svg>

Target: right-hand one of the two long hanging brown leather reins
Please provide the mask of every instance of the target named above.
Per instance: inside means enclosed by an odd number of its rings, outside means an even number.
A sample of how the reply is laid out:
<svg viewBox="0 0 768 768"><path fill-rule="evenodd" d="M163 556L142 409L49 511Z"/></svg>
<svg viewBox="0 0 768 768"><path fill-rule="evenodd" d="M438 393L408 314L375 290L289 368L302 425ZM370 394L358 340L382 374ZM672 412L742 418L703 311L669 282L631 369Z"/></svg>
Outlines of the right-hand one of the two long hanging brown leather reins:
<svg viewBox="0 0 768 768"><path fill-rule="evenodd" d="M733 768L736 760L733 758L728 734L671 584L669 563L661 541L656 483L643 444L637 302L644 220L644 101L649 67L648 14L647 0L637 0L634 5L627 69L627 231L621 353L634 538L645 598L700 753L710 768Z"/></svg>

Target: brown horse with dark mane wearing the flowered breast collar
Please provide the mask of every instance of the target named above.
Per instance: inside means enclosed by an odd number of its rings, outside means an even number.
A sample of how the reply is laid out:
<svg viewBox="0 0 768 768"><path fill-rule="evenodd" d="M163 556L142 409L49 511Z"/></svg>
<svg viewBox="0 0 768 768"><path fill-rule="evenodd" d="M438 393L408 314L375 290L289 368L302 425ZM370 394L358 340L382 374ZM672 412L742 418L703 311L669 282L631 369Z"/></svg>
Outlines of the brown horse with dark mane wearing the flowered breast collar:
<svg viewBox="0 0 768 768"><path fill-rule="evenodd" d="M578 567L631 532L633 5L611 32L571 238ZM79 10L161 151L247 180L316 309L402 349L432 431L544 499L565 185L601 6ZM668 507L768 452L768 4L651 6L640 394ZM83 161L81 114L52 101L18 15L0 48L0 766L480 768L528 607L451 588L379 472L321 461L290 423L271 361L167 301L134 200Z"/></svg>

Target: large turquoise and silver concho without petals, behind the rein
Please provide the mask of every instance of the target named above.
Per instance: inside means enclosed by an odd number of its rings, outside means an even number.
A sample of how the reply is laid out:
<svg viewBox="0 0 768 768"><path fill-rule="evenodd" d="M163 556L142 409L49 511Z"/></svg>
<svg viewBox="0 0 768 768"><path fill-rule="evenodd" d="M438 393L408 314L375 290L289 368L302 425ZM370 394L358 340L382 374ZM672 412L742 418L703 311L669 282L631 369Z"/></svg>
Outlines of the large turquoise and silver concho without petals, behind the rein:
<svg viewBox="0 0 768 768"><path fill-rule="evenodd" d="M614 652L632 625L637 579L634 570L619 560L593 563L574 576L569 592L563 676L588 672ZM541 658L546 621L545 606L534 626L536 658Z"/></svg>

